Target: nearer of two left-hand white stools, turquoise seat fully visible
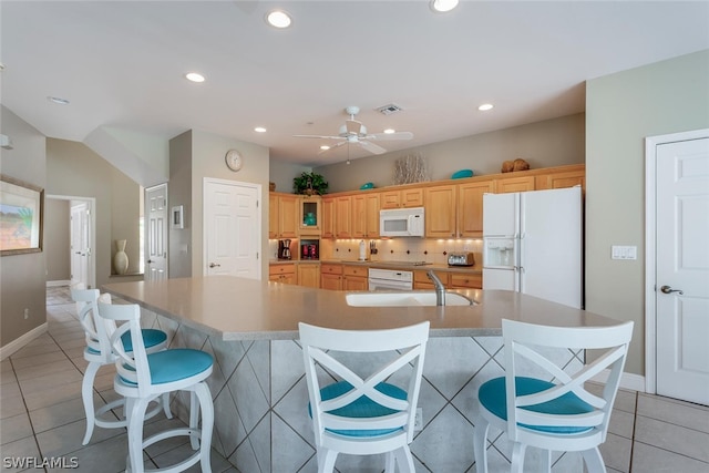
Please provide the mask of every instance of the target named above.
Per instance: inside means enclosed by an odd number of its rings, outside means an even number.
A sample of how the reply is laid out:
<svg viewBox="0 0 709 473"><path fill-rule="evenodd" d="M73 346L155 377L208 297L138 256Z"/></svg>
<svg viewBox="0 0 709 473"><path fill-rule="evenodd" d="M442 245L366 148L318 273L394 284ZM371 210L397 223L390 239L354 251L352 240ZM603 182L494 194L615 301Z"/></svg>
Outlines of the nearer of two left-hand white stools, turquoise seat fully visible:
<svg viewBox="0 0 709 473"><path fill-rule="evenodd" d="M116 356L114 388L126 399L129 430L127 470L144 472L143 449L177 435L188 435L192 449L188 459L160 470L162 473L184 471L201 463L203 472L209 473L209 453L214 429L214 404L205 380L212 374L214 359L205 351L174 348L147 353L141 335L141 309L137 305L111 305L99 301L99 315L110 321L125 321L110 333L111 347ZM130 333L133 351L124 349L122 337ZM189 426L160 432L143 440L143 423L147 404L173 391L189 391ZM202 429L199 429L202 414Z"/></svg>

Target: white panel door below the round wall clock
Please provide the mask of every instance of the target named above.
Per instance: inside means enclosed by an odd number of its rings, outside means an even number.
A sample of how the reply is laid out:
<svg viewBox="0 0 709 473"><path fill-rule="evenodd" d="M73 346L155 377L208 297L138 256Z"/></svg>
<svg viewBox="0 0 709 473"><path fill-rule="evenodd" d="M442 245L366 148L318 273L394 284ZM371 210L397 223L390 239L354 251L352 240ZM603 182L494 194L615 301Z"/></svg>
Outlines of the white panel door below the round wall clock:
<svg viewBox="0 0 709 473"><path fill-rule="evenodd" d="M204 274L260 279L260 185L205 179Z"/></svg>

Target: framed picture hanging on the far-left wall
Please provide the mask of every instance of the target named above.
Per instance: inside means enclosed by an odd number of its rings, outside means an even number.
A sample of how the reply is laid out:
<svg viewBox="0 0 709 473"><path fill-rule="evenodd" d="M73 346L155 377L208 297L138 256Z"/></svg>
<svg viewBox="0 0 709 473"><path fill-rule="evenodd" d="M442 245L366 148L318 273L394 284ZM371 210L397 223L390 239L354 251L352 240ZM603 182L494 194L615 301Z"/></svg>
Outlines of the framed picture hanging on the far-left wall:
<svg viewBox="0 0 709 473"><path fill-rule="evenodd" d="M44 189L0 174L0 256L42 250Z"/></svg>

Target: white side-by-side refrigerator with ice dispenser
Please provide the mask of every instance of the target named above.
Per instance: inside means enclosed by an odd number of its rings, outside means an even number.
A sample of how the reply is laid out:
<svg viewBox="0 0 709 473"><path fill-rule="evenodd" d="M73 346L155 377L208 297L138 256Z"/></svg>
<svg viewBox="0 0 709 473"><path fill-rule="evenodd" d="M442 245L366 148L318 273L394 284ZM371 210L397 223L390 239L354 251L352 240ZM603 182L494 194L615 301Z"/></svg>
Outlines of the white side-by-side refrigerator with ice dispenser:
<svg viewBox="0 0 709 473"><path fill-rule="evenodd" d="M483 289L582 308L580 186L483 195Z"/></svg>

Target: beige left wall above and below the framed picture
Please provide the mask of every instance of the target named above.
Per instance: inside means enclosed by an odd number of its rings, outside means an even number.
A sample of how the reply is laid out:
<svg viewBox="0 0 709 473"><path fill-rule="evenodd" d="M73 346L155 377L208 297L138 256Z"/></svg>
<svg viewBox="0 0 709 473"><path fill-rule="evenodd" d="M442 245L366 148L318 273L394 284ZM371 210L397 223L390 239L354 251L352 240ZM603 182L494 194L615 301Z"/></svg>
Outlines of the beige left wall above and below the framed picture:
<svg viewBox="0 0 709 473"><path fill-rule="evenodd" d="M47 187L44 136L0 105L0 133L10 136L14 150L0 148L0 172L39 187ZM47 192L45 192L47 194ZM0 346L47 322L47 254L0 258ZM24 309L29 317L24 319Z"/></svg>

